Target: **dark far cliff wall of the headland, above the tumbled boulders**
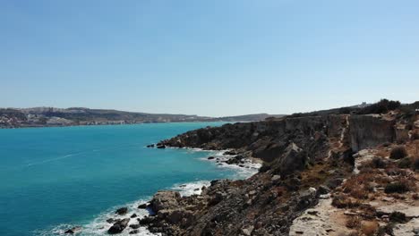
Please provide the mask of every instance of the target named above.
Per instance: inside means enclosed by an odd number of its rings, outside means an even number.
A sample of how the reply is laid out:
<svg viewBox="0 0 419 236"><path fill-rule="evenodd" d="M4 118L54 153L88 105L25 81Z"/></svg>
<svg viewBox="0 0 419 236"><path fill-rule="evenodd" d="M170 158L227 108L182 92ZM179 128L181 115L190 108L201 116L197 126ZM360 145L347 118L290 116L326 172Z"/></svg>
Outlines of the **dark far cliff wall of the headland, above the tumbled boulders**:
<svg viewBox="0 0 419 236"><path fill-rule="evenodd" d="M320 156L317 147L326 147L328 137L340 139L344 123L344 116L329 115L226 124L189 131L164 140L160 145L204 149L236 148L251 151L252 156L271 162L294 142L297 147L308 148L308 155L315 159Z"/></svg>

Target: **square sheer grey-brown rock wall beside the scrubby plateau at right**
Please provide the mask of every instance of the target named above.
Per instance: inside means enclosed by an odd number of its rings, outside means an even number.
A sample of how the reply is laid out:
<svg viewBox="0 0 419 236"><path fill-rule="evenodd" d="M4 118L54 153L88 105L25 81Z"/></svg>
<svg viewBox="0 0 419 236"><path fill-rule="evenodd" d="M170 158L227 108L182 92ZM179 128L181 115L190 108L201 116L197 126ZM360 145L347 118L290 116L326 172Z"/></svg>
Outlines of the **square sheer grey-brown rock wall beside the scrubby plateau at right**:
<svg viewBox="0 0 419 236"><path fill-rule="evenodd" d="M349 123L351 147L355 152L396 139L395 120L380 115L351 115Z"/></svg>

